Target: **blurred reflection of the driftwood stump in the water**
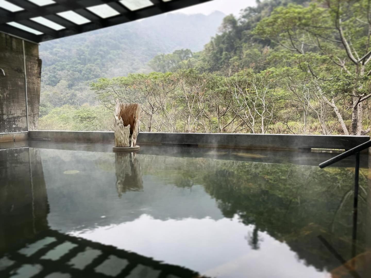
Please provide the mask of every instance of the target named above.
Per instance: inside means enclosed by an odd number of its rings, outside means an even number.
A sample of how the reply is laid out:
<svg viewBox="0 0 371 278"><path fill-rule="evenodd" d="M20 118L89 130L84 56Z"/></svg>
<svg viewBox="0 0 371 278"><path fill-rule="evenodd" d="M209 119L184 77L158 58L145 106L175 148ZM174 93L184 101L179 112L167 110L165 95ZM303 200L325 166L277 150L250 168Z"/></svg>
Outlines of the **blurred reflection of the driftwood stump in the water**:
<svg viewBox="0 0 371 278"><path fill-rule="evenodd" d="M134 152L116 153L116 190L119 198L128 191L143 191L142 173Z"/></svg>

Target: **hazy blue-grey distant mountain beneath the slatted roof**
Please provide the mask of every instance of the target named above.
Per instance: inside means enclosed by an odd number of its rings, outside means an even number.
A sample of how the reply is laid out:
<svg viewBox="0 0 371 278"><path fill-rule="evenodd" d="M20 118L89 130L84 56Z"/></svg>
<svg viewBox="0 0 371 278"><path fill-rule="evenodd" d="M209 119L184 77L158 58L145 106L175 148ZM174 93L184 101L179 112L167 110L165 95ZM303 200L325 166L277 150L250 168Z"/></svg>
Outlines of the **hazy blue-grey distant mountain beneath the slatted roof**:
<svg viewBox="0 0 371 278"><path fill-rule="evenodd" d="M224 16L168 13L41 43L42 85L64 80L73 87L98 77L150 72L146 64L157 54L202 50Z"/></svg>

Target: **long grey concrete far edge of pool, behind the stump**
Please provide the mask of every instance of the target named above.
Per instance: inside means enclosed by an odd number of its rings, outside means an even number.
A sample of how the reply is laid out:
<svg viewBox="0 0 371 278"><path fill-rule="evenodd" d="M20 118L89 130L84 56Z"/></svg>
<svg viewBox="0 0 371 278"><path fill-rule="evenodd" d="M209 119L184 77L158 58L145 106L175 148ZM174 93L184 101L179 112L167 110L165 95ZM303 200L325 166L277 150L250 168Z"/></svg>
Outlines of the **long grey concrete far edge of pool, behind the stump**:
<svg viewBox="0 0 371 278"><path fill-rule="evenodd" d="M114 142L110 131L30 130L30 139L64 142ZM138 144L256 149L351 149L367 142L367 135L292 135L252 133L141 132Z"/></svg>

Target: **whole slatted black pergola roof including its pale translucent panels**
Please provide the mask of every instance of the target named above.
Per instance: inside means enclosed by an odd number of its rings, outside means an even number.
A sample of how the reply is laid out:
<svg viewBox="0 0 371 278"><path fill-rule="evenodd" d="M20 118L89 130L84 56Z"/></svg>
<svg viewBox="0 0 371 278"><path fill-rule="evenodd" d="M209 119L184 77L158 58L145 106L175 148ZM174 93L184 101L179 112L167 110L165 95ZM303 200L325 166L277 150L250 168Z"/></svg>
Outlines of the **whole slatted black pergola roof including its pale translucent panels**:
<svg viewBox="0 0 371 278"><path fill-rule="evenodd" d="M0 32L45 42L210 0L0 0Z"/></svg>

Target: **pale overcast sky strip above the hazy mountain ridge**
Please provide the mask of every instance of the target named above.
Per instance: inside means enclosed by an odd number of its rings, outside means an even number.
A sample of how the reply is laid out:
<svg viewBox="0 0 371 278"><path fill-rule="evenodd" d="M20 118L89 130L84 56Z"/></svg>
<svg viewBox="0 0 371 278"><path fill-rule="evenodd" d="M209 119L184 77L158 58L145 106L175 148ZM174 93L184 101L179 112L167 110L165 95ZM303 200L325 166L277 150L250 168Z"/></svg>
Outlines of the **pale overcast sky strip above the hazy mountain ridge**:
<svg viewBox="0 0 371 278"><path fill-rule="evenodd" d="M255 0L212 0L203 4L194 5L189 8L177 10L174 12L185 14L203 13L207 15L212 13L213 11L221 11L224 14L233 13L238 16L241 9L255 5Z"/></svg>

